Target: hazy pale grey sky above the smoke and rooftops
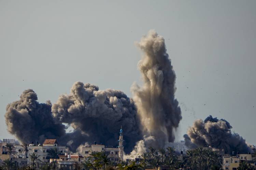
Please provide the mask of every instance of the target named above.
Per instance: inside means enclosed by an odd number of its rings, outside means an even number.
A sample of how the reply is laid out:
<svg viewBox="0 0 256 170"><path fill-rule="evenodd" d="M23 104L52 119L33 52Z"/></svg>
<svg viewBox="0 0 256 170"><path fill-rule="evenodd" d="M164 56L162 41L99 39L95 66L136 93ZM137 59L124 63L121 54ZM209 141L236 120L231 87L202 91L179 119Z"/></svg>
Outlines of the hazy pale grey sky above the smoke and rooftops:
<svg viewBox="0 0 256 170"><path fill-rule="evenodd" d="M196 119L223 118L256 145L256 1L0 0L0 138L5 107L33 89L55 103L76 81L124 91L142 84L134 45L165 38L176 73L182 140Z"/></svg>

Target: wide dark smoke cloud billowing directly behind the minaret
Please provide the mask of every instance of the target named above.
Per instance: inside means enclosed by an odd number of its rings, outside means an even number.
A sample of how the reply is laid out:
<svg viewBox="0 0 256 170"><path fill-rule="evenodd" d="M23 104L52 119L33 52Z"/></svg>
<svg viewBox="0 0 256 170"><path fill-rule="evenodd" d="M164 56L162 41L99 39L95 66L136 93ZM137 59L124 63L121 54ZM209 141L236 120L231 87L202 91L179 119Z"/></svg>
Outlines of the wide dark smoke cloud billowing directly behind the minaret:
<svg viewBox="0 0 256 170"><path fill-rule="evenodd" d="M71 124L84 133L83 143L117 145L121 125L126 151L131 151L142 138L134 103L119 90L99 90L98 86L76 82L71 93L60 96L52 106L52 113L59 122Z"/></svg>

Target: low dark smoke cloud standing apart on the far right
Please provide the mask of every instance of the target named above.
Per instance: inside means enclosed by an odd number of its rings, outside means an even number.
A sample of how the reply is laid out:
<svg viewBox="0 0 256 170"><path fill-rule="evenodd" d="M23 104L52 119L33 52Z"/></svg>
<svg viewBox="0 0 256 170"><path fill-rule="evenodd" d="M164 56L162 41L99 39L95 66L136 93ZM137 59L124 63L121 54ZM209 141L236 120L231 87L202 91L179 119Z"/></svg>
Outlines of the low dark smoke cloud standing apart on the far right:
<svg viewBox="0 0 256 170"><path fill-rule="evenodd" d="M250 146L237 133L231 132L232 126L225 119L213 118L211 115L204 121L196 120L184 135L186 145L189 148L211 146L224 149L225 153L232 151L247 153L251 152Z"/></svg>

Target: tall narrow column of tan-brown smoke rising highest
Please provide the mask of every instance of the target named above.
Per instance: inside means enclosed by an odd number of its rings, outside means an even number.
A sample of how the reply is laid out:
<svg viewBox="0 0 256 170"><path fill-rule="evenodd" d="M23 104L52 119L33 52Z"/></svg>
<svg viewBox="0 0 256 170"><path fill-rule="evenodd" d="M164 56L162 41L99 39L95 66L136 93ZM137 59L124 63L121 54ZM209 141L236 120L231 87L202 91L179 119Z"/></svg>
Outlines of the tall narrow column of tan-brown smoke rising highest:
<svg viewBox="0 0 256 170"><path fill-rule="evenodd" d="M182 119L179 102L174 98L176 75L163 37L150 31L137 45L144 52L138 63L144 85L133 84L133 100L144 134L154 136L162 147L174 141L173 130Z"/></svg>

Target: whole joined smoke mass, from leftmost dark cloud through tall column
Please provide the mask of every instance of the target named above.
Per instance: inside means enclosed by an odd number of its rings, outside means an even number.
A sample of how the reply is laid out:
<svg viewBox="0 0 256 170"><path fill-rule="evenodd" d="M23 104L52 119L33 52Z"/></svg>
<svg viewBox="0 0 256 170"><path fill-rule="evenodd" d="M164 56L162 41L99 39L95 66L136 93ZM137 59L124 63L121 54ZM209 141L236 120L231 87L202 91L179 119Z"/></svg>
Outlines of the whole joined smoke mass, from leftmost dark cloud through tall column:
<svg viewBox="0 0 256 170"><path fill-rule="evenodd" d="M174 141L173 130L182 117L174 98L176 77L165 41L150 31L138 47L144 52L138 64L144 84L132 86L133 99L122 91L99 90L82 82L75 82L70 94L60 95L53 105L49 101L38 103L35 92L25 90L20 100L6 107L8 131L27 143L56 138L73 152L79 152L85 142L117 146L121 125L126 153L140 153L149 146L163 147ZM62 123L74 131L66 133Z"/></svg>

